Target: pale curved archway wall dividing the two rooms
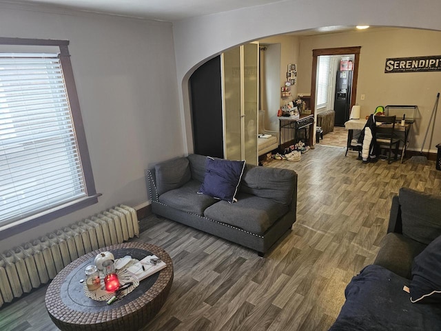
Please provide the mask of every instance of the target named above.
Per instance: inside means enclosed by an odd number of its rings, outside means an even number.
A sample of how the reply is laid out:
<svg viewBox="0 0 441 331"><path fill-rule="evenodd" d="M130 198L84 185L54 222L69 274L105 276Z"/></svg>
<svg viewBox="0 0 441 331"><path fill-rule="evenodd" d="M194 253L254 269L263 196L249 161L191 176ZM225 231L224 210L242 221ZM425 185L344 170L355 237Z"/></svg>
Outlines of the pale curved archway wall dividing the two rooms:
<svg viewBox="0 0 441 331"><path fill-rule="evenodd" d="M441 30L439 0L285 0L174 23L176 70L181 86L178 92L187 150L192 151L193 145L188 78L200 63L247 41L322 26L358 24Z"/></svg>

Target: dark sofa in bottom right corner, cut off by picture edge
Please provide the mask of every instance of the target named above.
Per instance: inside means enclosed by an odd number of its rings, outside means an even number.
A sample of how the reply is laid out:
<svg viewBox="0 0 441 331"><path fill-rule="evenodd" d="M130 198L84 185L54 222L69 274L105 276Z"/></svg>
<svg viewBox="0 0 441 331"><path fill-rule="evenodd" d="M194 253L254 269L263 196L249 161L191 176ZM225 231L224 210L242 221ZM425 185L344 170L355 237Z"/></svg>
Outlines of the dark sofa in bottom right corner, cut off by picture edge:
<svg viewBox="0 0 441 331"><path fill-rule="evenodd" d="M440 236L441 195L401 188L376 260L347 285L330 331L441 330L440 297L422 300L439 295Z"/></svg>

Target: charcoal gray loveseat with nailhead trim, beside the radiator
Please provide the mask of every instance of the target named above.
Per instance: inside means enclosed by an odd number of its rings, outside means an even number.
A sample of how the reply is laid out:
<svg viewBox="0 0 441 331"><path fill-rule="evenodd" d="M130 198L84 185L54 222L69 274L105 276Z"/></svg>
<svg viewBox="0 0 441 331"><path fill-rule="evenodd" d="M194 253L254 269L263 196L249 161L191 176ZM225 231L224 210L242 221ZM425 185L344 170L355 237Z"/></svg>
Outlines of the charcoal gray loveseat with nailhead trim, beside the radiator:
<svg viewBox="0 0 441 331"><path fill-rule="evenodd" d="M146 170L152 212L263 256L296 221L296 172L245 165L238 201L228 203L197 193L206 160L190 154Z"/></svg>

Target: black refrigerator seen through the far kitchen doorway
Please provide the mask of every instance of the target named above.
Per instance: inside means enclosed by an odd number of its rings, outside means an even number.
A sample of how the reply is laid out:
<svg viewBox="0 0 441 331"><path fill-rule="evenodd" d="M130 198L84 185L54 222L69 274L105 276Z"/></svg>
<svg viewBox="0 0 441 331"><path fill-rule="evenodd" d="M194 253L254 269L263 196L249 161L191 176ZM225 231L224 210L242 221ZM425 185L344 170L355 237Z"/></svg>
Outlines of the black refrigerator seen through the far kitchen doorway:
<svg viewBox="0 0 441 331"><path fill-rule="evenodd" d="M351 108L352 70L339 70L336 79L336 96L334 111L336 117L334 126L345 126L349 120Z"/></svg>

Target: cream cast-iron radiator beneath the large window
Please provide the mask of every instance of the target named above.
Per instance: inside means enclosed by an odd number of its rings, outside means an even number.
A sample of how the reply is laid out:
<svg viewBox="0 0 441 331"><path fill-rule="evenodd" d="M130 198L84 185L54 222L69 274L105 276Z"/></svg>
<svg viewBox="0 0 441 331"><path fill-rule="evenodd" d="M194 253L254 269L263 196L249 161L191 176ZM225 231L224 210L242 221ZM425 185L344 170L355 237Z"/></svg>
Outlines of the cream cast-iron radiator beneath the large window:
<svg viewBox="0 0 441 331"><path fill-rule="evenodd" d="M48 283L66 265L108 245L139 237L136 210L118 205L0 254L0 307Z"/></svg>

